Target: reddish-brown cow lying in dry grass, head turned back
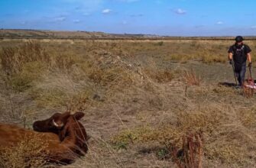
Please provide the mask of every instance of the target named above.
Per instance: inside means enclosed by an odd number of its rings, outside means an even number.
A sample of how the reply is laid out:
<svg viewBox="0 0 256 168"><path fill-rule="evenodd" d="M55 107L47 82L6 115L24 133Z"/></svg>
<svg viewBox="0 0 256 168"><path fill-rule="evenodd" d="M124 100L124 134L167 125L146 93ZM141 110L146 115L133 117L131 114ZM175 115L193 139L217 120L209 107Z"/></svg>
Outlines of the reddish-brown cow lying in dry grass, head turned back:
<svg viewBox="0 0 256 168"><path fill-rule="evenodd" d="M22 140L40 137L44 144L41 153L47 162L70 163L88 150L86 130L79 122L83 116L82 112L74 115L57 113L47 120L34 122L34 131L0 124L0 148L12 147L15 150L13 147L20 145Z"/></svg>

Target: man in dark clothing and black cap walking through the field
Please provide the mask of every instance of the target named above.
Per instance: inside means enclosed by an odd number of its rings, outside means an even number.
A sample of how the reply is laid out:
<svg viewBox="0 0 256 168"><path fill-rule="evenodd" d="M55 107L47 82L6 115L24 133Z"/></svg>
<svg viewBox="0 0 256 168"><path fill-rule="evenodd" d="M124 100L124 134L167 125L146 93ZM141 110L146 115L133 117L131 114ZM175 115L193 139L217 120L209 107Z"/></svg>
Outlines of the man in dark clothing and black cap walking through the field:
<svg viewBox="0 0 256 168"><path fill-rule="evenodd" d="M249 68L251 68L251 49L248 45L243 44L243 40L241 36L235 37L235 44L228 50L229 63L235 66L235 76L239 86L245 82L246 60L248 60Z"/></svg>

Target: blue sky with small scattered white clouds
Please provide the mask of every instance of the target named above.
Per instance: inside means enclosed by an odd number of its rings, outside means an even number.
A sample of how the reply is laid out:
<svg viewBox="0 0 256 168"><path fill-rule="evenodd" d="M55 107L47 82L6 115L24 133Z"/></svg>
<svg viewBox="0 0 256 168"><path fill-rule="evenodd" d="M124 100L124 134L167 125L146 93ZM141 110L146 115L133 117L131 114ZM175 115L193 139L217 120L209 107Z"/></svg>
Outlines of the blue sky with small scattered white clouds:
<svg viewBox="0 0 256 168"><path fill-rule="evenodd" d="M0 0L0 28L256 35L254 0Z"/></svg>

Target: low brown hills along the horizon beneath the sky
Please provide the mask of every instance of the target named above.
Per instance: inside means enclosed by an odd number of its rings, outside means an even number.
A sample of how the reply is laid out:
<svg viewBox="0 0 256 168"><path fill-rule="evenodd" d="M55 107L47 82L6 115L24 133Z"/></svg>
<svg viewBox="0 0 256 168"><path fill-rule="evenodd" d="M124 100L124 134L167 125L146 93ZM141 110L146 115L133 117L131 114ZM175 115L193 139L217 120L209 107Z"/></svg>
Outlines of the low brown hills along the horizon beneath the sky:
<svg viewBox="0 0 256 168"><path fill-rule="evenodd" d="M192 39L192 40L233 40L234 37L170 37L154 34L107 34L103 32L89 31L47 31L47 30L23 30L0 29L0 38L28 38L28 39ZM256 37L245 37L248 40L256 40Z"/></svg>

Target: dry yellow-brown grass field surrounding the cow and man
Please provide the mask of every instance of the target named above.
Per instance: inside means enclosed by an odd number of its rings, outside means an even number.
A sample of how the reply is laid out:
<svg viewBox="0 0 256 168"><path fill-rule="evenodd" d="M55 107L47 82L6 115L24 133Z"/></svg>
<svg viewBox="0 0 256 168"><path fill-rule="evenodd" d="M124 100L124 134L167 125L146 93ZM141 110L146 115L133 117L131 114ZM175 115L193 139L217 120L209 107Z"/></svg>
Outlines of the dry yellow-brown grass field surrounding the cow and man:
<svg viewBox="0 0 256 168"><path fill-rule="evenodd" d="M235 82L232 43L2 39L0 121L31 128L57 111L84 111L89 153L64 167L186 165L184 137L199 133L203 167L254 167L256 97L220 84ZM245 43L254 57L256 42ZM0 166L27 167L28 148L8 150Z"/></svg>

